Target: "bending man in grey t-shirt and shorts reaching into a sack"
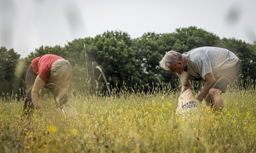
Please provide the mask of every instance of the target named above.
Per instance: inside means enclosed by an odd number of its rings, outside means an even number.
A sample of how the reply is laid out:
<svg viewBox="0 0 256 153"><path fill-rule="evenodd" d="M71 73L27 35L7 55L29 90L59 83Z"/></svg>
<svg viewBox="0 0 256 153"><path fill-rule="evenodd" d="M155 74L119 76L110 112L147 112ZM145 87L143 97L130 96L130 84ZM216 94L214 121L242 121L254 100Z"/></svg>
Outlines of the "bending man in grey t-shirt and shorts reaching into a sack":
<svg viewBox="0 0 256 153"><path fill-rule="evenodd" d="M204 99L206 105L215 110L224 107L221 93L225 92L239 68L239 58L218 47L199 47L184 54L169 51L159 63L163 69L178 74L183 83L180 94L192 87L190 80L206 82L196 99L200 103ZM206 97L207 93L210 96Z"/></svg>

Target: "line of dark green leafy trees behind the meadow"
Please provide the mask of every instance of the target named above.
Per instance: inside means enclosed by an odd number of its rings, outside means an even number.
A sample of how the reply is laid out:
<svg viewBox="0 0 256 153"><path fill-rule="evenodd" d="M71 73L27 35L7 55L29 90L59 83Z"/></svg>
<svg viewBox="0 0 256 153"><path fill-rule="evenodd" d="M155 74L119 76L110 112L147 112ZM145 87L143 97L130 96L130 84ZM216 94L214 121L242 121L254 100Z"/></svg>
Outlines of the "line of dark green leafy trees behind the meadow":
<svg viewBox="0 0 256 153"><path fill-rule="evenodd" d="M249 44L235 38L220 39L217 35L191 26L174 33L144 33L132 39L123 31L106 31L94 38L79 38L61 46L41 46L27 57L20 58L14 49L0 48L0 95L25 94L26 71L34 58L55 54L72 65L70 89L76 92L107 90L104 79L95 66L101 67L111 88L121 91L149 91L153 87L178 86L178 77L159 67L167 51L184 53L202 46L223 47L241 59L239 74L256 79L256 42ZM248 71L249 70L249 71ZM97 89L98 88L98 89Z"/></svg>

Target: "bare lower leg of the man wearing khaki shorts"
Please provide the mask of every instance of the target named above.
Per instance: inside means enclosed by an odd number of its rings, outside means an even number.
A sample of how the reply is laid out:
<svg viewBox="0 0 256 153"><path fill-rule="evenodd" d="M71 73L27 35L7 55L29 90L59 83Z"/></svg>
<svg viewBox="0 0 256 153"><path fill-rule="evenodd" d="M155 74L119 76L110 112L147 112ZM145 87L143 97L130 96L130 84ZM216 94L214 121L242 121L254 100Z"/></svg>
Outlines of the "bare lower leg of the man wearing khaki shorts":
<svg viewBox="0 0 256 153"><path fill-rule="evenodd" d="M215 111L222 111L224 108L224 103L221 97L222 91L216 89L216 88L211 88L209 90L209 94L212 100L212 107L214 107Z"/></svg>

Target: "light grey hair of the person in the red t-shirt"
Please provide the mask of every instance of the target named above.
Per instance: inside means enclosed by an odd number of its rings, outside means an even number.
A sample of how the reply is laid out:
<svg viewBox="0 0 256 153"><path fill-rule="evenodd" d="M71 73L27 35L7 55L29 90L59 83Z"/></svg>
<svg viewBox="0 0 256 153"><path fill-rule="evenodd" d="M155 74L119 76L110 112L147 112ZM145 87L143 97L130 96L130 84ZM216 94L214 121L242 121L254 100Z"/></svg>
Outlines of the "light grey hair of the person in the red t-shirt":
<svg viewBox="0 0 256 153"><path fill-rule="evenodd" d="M59 76L65 81L69 77L70 71L71 65L69 61L65 59L58 59L52 65L51 77Z"/></svg>

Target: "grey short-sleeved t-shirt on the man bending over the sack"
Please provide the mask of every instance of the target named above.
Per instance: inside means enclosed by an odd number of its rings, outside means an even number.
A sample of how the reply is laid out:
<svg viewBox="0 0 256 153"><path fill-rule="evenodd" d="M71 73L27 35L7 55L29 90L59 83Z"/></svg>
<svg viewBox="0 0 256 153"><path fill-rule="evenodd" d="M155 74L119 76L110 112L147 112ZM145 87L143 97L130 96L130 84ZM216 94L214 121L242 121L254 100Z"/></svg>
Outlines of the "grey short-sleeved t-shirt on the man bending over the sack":
<svg viewBox="0 0 256 153"><path fill-rule="evenodd" d="M215 74L219 70L229 69L239 61L234 53L218 47L199 47L183 55L187 62L187 70L178 74L183 84L187 84L188 79L206 82L205 75L211 72L218 78L220 76Z"/></svg>

